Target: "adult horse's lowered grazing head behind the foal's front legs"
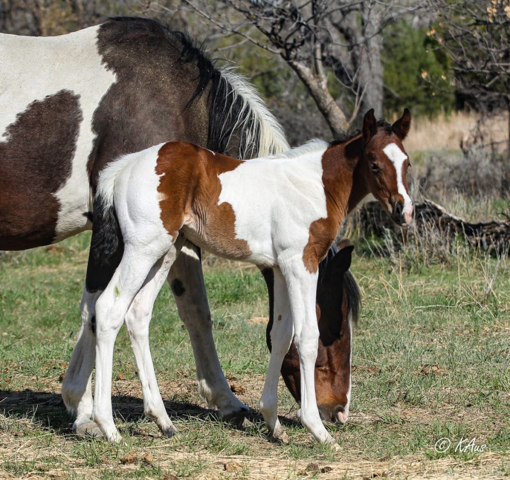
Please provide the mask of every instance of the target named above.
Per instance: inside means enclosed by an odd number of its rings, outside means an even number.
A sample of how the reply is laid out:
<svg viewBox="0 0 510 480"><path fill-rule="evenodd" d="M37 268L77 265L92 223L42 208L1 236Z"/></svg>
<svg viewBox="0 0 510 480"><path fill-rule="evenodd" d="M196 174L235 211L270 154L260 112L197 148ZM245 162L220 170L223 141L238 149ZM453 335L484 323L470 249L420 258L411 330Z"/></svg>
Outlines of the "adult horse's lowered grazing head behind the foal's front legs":
<svg viewBox="0 0 510 480"><path fill-rule="evenodd" d="M317 320L319 349L315 362L315 394L323 421L343 424L349 415L351 392L352 324L358 320L360 291L351 273L353 247L348 241L334 244L319 266ZM269 291L271 271L263 271ZM272 305L266 340L271 350ZM294 342L282 364L282 378L297 403L301 399L299 357Z"/></svg>

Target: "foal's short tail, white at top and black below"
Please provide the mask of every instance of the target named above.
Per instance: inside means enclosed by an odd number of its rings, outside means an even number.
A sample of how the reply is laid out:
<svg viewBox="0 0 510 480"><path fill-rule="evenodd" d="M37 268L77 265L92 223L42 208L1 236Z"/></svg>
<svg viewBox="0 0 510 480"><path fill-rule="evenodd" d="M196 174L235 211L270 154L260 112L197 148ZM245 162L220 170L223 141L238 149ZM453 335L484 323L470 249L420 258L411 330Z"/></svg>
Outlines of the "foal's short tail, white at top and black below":
<svg viewBox="0 0 510 480"><path fill-rule="evenodd" d="M90 251L96 264L117 265L123 250L122 232L115 212L115 179L126 164L126 157L121 157L108 164L99 172L97 192L94 197L92 239ZM120 253L120 255L119 255Z"/></svg>

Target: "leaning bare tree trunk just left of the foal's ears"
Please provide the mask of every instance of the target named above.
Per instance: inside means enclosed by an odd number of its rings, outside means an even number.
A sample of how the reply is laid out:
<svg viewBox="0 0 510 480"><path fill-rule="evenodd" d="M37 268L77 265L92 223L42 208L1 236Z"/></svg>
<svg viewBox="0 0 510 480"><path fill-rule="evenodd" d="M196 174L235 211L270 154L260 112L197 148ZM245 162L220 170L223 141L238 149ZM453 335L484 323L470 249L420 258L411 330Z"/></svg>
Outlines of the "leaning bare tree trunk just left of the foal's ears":
<svg viewBox="0 0 510 480"><path fill-rule="evenodd" d="M327 85L322 85L317 75L306 65L297 60L290 60L288 63L312 95L333 136L338 137L345 134L349 129L349 124L337 102L327 90Z"/></svg>

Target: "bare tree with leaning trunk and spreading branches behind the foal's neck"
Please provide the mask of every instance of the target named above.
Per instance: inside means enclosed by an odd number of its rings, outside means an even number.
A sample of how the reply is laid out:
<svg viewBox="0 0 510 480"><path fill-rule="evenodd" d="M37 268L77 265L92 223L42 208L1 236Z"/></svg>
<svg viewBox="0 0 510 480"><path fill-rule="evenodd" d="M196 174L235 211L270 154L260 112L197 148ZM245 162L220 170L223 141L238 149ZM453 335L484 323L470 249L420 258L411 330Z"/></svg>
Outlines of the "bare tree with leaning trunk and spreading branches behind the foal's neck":
<svg viewBox="0 0 510 480"><path fill-rule="evenodd" d="M382 114L381 31L396 16L419 8L381 0L184 3L222 31L281 56L335 136L349 130L360 110Z"/></svg>

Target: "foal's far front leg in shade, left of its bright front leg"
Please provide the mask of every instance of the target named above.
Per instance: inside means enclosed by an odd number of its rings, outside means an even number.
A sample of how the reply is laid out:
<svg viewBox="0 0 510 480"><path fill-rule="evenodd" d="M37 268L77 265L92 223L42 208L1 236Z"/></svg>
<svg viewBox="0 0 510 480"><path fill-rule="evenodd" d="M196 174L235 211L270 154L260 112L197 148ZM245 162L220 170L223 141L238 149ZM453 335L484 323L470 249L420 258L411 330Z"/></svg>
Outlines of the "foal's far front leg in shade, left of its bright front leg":
<svg viewBox="0 0 510 480"><path fill-rule="evenodd" d="M278 380L285 355L293 336L292 313L287 284L278 269L274 272L274 323L271 329L271 357L259 408L267 423L269 434L276 440L288 442L288 436L278 420Z"/></svg>

